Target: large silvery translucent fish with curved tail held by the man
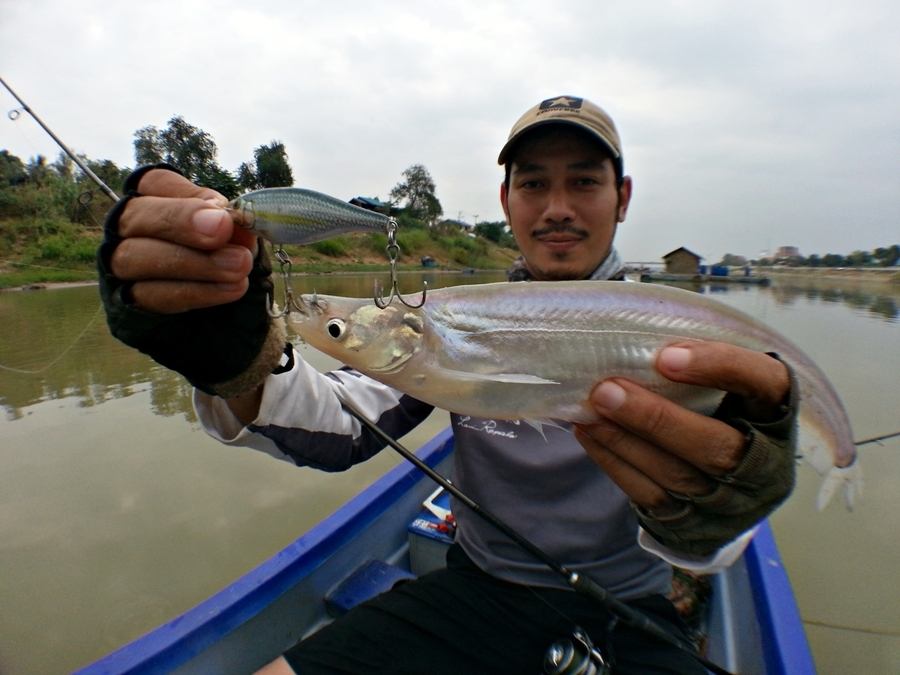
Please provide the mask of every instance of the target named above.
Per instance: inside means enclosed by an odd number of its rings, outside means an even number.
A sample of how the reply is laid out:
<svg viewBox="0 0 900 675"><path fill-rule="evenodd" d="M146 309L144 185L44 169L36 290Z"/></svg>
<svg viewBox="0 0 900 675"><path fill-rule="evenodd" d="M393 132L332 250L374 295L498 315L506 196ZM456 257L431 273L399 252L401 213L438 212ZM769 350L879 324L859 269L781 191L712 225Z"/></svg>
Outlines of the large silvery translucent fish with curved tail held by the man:
<svg viewBox="0 0 900 675"><path fill-rule="evenodd" d="M825 374L762 322L706 296L640 283L532 281L442 288L417 309L303 300L293 325L313 347L439 408L492 419L595 421L588 395L615 376L709 414L722 393L663 378L654 368L660 349L716 340L777 352L797 376L801 430L817 437L810 463L827 474L819 507L839 486L852 505L861 488L850 423Z"/></svg>

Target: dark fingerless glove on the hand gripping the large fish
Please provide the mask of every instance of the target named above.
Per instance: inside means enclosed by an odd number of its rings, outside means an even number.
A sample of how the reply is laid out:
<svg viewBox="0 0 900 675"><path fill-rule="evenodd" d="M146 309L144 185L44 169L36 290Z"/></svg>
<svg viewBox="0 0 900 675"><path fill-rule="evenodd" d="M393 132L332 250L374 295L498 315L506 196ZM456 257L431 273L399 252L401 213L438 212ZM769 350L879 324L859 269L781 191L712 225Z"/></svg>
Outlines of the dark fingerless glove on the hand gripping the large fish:
<svg viewBox="0 0 900 675"><path fill-rule="evenodd" d="M634 505L641 527L654 539L675 551L707 556L749 530L790 495L797 463L797 381L790 367L788 372L790 391L774 420L749 419L746 400L736 394L722 400L714 417L744 432L747 450L735 471L711 476L717 482L712 492L699 497L670 492L682 504L673 515L656 515Z"/></svg>

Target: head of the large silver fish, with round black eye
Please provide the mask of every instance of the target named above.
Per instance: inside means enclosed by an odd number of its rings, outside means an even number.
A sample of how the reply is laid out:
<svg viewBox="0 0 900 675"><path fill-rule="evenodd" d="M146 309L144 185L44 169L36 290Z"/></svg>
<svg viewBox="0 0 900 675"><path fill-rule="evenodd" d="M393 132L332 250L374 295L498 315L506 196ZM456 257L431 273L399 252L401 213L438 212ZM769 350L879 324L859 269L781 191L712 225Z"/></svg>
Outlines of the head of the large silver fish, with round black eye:
<svg viewBox="0 0 900 675"><path fill-rule="evenodd" d="M306 311L291 314L308 344L364 373L390 375L419 351L424 321L402 304L384 309L371 300L304 295Z"/></svg>

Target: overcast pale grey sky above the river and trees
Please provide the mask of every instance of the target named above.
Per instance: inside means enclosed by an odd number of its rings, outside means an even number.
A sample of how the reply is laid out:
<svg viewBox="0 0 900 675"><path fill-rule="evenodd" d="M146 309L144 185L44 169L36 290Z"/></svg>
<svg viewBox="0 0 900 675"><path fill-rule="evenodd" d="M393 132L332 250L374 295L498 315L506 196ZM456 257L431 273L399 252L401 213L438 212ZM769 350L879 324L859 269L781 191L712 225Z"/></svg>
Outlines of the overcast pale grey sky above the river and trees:
<svg viewBox="0 0 900 675"><path fill-rule="evenodd" d="M467 222L503 218L513 122L588 98L634 180L623 257L712 263L900 243L898 35L896 0L0 0L0 77L92 159L134 166L134 132L181 115L224 168L278 140L342 199L423 164ZM24 114L4 148L59 154Z"/></svg>

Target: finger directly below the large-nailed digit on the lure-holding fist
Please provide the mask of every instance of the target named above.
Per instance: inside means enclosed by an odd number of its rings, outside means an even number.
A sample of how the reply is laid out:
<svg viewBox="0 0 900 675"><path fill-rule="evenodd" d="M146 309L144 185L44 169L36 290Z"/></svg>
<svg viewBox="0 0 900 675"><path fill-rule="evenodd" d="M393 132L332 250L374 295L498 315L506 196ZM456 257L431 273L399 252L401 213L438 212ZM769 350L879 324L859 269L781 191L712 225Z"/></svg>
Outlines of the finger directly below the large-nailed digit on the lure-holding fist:
<svg viewBox="0 0 900 675"><path fill-rule="evenodd" d="M253 267L243 246L228 244L206 252L159 239L125 239L110 260L112 272L125 281L168 280L235 283Z"/></svg>

